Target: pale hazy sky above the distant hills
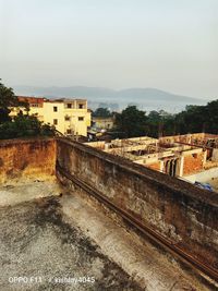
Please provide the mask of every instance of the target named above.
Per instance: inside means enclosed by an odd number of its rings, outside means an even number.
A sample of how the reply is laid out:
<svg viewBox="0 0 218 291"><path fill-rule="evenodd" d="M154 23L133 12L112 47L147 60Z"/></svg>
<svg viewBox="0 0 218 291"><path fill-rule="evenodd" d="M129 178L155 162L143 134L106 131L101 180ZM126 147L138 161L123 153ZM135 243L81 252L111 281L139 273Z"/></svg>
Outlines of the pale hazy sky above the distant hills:
<svg viewBox="0 0 218 291"><path fill-rule="evenodd" d="M218 98L218 0L0 0L0 77Z"/></svg>

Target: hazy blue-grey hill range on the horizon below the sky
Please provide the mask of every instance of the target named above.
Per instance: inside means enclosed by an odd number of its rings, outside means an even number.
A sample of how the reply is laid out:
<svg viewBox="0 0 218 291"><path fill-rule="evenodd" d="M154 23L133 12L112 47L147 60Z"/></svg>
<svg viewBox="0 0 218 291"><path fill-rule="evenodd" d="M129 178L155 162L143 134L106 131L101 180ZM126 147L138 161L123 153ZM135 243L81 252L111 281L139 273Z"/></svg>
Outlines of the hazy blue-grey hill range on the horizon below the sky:
<svg viewBox="0 0 218 291"><path fill-rule="evenodd" d="M101 87L35 87L15 86L16 95L44 96L48 98L86 98L90 108L95 109L99 104L116 102L120 109L130 104L137 105L141 109L168 109L169 111L181 110L185 105L205 105L206 100L189 96L180 96L156 88L128 88L114 90Z"/></svg>

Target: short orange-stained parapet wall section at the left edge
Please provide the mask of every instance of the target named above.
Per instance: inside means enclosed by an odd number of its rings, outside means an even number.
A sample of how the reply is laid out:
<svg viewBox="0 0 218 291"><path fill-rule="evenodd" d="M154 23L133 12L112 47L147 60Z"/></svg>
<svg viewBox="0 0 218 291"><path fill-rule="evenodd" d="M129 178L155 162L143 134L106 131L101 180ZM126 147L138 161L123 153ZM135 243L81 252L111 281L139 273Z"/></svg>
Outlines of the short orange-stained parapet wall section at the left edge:
<svg viewBox="0 0 218 291"><path fill-rule="evenodd" d="M56 173L52 138L0 141L0 183L21 178L44 179Z"/></svg>

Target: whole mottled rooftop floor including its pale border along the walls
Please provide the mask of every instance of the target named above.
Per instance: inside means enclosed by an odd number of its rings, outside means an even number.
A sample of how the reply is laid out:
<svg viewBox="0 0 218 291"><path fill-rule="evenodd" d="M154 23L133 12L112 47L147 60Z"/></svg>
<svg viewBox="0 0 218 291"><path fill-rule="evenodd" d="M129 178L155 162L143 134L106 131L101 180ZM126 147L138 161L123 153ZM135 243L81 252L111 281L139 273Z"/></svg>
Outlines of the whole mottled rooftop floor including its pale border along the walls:
<svg viewBox="0 0 218 291"><path fill-rule="evenodd" d="M0 201L0 290L211 290L55 181L3 185Z"/></svg>

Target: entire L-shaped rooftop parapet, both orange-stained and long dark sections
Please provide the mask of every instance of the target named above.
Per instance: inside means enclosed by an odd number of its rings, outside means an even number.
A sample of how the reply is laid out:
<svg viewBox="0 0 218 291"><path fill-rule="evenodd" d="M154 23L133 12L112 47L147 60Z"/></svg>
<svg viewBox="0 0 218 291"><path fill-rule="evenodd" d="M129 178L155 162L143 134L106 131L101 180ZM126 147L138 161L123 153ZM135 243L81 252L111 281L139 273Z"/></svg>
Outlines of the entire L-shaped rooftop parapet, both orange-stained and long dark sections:
<svg viewBox="0 0 218 291"><path fill-rule="evenodd" d="M217 193L64 138L0 142L0 183L55 177L56 160L145 226L218 268Z"/></svg>

